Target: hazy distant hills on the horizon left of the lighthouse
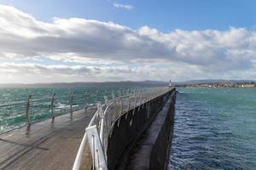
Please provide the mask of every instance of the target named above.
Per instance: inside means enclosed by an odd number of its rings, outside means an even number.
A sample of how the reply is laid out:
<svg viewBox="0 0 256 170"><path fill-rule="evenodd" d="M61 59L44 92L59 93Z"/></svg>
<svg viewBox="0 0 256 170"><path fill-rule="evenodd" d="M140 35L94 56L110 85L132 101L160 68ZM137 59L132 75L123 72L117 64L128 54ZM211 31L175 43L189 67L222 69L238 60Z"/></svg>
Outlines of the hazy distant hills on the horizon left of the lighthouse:
<svg viewBox="0 0 256 170"><path fill-rule="evenodd" d="M0 84L0 88L82 88L82 87L164 87L168 82L143 81L143 82L52 82L52 83L9 83Z"/></svg>

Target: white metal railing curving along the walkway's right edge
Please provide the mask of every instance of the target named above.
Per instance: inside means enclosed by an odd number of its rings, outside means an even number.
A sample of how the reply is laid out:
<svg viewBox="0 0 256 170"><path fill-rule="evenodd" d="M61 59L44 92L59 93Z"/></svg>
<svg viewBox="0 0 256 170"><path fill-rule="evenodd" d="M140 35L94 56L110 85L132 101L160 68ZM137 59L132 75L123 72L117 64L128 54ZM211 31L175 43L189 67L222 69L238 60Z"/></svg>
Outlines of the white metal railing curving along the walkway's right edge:
<svg viewBox="0 0 256 170"><path fill-rule="evenodd" d="M111 136L114 122L125 112L133 110L139 106L143 107L144 103L154 99L161 94L166 94L170 88L150 88L137 91L134 94L127 94L115 99L108 100L104 105L98 103L97 111L92 117L90 124L86 127L84 137L79 146L79 151L73 164L73 170L79 170L85 145L90 146L92 156L92 169L108 169L107 151L108 137ZM119 126L119 122L118 122Z"/></svg>

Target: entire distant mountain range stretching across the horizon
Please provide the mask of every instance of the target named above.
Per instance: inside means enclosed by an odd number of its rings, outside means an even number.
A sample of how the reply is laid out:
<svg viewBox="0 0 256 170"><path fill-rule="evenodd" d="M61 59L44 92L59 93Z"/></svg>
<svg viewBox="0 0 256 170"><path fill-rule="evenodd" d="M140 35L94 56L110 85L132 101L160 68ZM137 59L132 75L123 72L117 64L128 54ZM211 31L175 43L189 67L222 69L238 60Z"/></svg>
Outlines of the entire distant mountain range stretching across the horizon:
<svg viewBox="0 0 256 170"><path fill-rule="evenodd" d="M256 82L255 80L224 80L224 79L204 79L190 80L186 82L172 82L172 85L189 85L210 82ZM51 83L2 83L0 88L81 88L81 87L164 87L169 82L163 81L143 81L143 82L51 82Z"/></svg>

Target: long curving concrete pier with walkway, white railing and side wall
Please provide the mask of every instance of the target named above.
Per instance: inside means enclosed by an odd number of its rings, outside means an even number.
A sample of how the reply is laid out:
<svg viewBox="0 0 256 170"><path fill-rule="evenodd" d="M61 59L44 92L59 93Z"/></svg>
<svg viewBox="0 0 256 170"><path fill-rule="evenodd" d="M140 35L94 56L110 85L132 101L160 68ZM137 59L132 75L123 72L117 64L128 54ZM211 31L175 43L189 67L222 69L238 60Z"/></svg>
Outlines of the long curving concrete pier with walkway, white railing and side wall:
<svg viewBox="0 0 256 170"><path fill-rule="evenodd" d="M175 88L156 88L3 133L0 169L166 168L174 104Z"/></svg>

